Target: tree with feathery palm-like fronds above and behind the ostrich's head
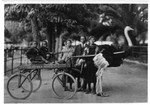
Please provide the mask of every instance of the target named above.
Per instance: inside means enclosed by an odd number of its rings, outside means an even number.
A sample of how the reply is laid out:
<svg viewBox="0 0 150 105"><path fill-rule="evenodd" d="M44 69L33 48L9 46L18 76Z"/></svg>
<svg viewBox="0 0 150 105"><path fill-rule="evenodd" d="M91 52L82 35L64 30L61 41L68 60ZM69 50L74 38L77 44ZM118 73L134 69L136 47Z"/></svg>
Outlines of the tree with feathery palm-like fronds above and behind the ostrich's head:
<svg viewBox="0 0 150 105"><path fill-rule="evenodd" d="M103 4L99 8L105 14L104 20L112 20L111 25L117 25L122 29L125 26L134 28L135 33L131 36L131 40L135 45L136 37L147 31L147 4Z"/></svg>

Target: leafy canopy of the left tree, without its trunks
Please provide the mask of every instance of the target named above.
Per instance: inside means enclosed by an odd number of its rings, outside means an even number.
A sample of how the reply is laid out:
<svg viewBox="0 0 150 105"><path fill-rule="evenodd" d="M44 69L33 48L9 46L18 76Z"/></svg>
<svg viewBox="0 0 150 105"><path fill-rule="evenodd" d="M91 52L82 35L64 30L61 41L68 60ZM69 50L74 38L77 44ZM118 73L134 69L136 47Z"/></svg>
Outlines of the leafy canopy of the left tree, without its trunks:
<svg viewBox="0 0 150 105"><path fill-rule="evenodd" d="M98 18L94 9L96 6L86 4L12 4L5 5L5 20L28 23L29 17L36 14L39 28L46 27L48 22L75 28L76 25L88 26Z"/></svg>

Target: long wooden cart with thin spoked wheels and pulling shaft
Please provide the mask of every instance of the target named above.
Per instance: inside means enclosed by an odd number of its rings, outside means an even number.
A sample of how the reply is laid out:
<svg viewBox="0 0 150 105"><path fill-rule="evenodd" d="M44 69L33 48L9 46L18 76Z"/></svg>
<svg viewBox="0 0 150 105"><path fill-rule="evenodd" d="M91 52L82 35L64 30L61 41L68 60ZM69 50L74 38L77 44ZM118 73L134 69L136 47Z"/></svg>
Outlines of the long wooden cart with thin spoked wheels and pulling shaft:
<svg viewBox="0 0 150 105"><path fill-rule="evenodd" d="M52 90L59 98L70 99L77 91L77 80L70 71L81 72L73 65L73 58L87 58L94 55L72 56L65 64L23 64L18 67L19 72L12 75L7 82L7 91L14 99L26 99L36 92L42 84L40 72L44 69L53 70Z"/></svg>

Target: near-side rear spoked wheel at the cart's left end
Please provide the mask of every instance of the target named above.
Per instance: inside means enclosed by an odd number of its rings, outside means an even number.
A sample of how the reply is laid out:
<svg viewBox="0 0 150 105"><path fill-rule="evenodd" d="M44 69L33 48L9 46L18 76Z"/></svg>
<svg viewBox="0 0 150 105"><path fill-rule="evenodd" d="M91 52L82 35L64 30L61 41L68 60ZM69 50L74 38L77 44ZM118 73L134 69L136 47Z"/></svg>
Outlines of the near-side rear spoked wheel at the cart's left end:
<svg viewBox="0 0 150 105"><path fill-rule="evenodd" d="M24 91L22 88L28 89ZM15 74L7 82L7 91L14 99L26 99L32 93L33 85L31 80L23 74Z"/></svg>

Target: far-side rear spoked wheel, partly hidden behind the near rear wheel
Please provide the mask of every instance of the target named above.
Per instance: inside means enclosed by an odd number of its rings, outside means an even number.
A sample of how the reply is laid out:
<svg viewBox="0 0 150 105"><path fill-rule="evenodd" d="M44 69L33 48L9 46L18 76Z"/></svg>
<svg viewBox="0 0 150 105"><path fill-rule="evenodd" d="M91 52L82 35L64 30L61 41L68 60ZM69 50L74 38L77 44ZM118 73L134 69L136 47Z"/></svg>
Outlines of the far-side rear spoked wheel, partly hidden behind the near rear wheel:
<svg viewBox="0 0 150 105"><path fill-rule="evenodd" d="M42 84L42 78L41 78L41 70L40 69L35 69L35 70L30 70L28 72L24 73L26 76L28 76L29 79L31 79L31 82L33 84L33 90L32 92L36 92ZM30 91L26 89L25 87L22 87L25 91Z"/></svg>

